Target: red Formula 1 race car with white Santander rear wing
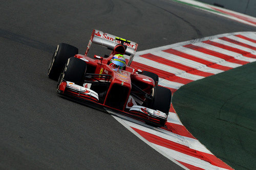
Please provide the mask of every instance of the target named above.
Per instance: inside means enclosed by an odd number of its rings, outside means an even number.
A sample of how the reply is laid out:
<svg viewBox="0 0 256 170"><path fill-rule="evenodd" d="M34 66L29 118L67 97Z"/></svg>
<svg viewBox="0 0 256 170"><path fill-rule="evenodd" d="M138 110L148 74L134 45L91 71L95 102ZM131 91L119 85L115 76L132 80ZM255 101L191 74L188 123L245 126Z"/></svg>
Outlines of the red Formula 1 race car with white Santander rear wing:
<svg viewBox="0 0 256 170"><path fill-rule="evenodd" d="M92 43L111 50L110 55L88 57ZM172 99L169 89L158 86L158 76L130 67L138 44L93 30L86 54L60 43L48 70L58 80L57 91L91 107L130 116L153 126L164 126ZM113 69L113 56L123 55L125 66Z"/></svg>

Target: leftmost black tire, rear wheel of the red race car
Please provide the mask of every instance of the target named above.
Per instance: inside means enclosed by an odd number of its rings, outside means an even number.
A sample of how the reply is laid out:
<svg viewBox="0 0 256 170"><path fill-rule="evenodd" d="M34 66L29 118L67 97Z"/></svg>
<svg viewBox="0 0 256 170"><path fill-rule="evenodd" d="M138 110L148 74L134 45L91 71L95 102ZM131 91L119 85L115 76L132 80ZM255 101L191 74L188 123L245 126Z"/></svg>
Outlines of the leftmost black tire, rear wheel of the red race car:
<svg viewBox="0 0 256 170"><path fill-rule="evenodd" d="M60 43L57 45L48 69L48 77L58 80L66 61L78 54L78 48L69 44Z"/></svg>

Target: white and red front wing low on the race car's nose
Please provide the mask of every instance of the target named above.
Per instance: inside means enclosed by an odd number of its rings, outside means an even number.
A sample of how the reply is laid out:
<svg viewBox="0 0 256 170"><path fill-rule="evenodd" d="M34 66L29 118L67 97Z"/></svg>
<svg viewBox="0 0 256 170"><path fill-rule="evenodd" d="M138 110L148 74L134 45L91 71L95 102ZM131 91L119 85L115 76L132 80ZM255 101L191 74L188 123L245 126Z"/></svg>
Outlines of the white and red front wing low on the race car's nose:
<svg viewBox="0 0 256 170"><path fill-rule="evenodd" d="M101 103L98 103L99 101L99 96L97 92L85 88L79 85L76 85L73 82L69 81L62 81L58 88L57 91L59 94L62 96L67 97L68 99L96 108L98 110L104 111L111 113L107 110L112 110L115 113L119 113L122 115L126 115L129 117L133 117L138 120L142 120L143 122L147 124L151 124L153 126L164 126L167 116L165 113L159 111L159 110L153 110L150 108L146 108L143 106L138 106L134 105L127 109L127 111L115 109L106 105L103 105Z"/></svg>

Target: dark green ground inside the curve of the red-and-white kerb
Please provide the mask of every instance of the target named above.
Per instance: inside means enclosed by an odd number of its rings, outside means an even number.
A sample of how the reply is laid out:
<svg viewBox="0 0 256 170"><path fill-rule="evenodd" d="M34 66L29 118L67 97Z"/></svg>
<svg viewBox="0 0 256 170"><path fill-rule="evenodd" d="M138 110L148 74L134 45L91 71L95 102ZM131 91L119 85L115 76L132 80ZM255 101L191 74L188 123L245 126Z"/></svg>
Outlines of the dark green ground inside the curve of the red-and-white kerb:
<svg viewBox="0 0 256 170"><path fill-rule="evenodd" d="M235 169L256 168L256 62L182 86L173 105L218 158Z"/></svg>

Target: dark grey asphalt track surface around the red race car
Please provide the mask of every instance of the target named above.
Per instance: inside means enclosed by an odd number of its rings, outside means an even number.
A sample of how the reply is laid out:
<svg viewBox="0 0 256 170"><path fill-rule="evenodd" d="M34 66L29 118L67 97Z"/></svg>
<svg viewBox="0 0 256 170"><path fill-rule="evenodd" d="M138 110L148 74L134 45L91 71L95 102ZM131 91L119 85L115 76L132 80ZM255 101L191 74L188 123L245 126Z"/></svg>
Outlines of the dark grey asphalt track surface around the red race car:
<svg viewBox="0 0 256 170"><path fill-rule="evenodd" d="M55 46L83 54L93 29L138 51L255 31L172 1L8 0L0 9L0 169L178 169L111 115L60 98L47 77Z"/></svg>

